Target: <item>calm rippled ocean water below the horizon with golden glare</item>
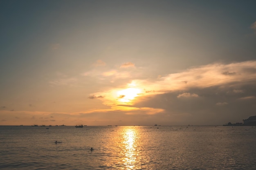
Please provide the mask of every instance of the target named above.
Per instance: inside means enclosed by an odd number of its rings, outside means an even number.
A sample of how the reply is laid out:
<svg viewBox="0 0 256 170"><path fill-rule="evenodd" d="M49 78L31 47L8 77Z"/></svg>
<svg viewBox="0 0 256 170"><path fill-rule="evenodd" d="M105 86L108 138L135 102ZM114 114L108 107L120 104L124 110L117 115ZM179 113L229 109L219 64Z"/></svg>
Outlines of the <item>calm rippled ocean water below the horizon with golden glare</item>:
<svg viewBox="0 0 256 170"><path fill-rule="evenodd" d="M256 170L256 127L0 126L0 169Z"/></svg>

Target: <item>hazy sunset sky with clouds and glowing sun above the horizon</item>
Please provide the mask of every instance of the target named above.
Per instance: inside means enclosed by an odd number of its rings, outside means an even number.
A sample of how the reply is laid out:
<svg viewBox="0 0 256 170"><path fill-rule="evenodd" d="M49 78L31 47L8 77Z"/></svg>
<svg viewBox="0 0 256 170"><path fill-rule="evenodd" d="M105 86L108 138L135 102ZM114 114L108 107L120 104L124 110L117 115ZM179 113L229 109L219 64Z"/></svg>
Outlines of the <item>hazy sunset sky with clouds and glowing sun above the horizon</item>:
<svg viewBox="0 0 256 170"><path fill-rule="evenodd" d="M0 125L256 115L254 0L0 0Z"/></svg>

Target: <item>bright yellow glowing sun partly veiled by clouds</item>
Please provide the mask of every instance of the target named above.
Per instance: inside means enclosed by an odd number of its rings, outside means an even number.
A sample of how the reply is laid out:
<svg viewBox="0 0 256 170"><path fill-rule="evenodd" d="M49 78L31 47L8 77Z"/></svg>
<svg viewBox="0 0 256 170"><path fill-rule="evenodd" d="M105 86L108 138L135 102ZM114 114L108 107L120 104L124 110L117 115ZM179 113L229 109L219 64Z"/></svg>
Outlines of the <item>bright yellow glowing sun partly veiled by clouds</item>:
<svg viewBox="0 0 256 170"><path fill-rule="evenodd" d="M119 102L130 103L135 97L141 93L139 88L126 88L124 90L118 91L117 96Z"/></svg>

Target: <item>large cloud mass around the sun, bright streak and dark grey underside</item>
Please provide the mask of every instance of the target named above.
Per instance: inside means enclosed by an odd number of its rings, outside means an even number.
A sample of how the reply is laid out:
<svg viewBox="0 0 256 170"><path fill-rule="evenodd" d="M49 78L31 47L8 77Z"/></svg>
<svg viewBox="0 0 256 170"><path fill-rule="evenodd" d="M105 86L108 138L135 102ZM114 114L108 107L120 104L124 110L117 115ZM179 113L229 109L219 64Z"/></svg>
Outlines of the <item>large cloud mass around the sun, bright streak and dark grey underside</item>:
<svg viewBox="0 0 256 170"><path fill-rule="evenodd" d="M162 109L157 114L165 117L163 122L168 120L177 125L184 122L219 124L220 119L244 119L254 113L255 104L251 101L256 96L255 70L254 60L230 64L214 63L162 76L155 81L133 79L126 86L105 89L94 95L107 96L99 98L104 105L111 107L110 110L104 110L107 113L120 110L121 113L134 116L141 108ZM118 92L131 88L131 85L132 88L140 89L141 93L130 102L120 102L123 96L118 95ZM180 100L188 97L193 97L193 100ZM242 102L245 99L251 100ZM219 102L223 100L225 102ZM148 115L147 112L141 114Z"/></svg>

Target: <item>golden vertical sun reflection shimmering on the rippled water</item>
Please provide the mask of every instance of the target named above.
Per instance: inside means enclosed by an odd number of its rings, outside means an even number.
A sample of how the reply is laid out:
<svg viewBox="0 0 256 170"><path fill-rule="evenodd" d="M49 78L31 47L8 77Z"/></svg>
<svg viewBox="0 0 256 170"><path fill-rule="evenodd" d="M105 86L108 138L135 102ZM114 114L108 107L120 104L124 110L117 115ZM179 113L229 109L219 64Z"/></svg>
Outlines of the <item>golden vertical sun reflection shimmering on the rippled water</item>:
<svg viewBox="0 0 256 170"><path fill-rule="evenodd" d="M133 170L136 163L136 130L133 128L127 128L124 132L124 165L127 170Z"/></svg>

